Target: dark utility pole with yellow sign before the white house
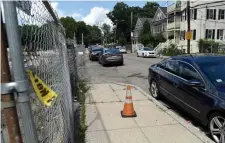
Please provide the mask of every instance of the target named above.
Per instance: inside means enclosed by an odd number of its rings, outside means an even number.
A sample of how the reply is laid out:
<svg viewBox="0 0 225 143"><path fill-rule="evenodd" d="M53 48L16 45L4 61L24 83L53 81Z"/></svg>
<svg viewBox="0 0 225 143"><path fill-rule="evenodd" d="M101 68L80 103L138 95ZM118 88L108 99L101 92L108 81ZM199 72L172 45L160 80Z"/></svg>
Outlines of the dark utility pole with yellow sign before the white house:
<svg viewBox="0 0 225 143"><path fill-rule="evenodd" d="M190 15L190 0L187 1L187 32L191 32L191 15ZM190 54L190 36L187 38L187 53Z"/></svg>

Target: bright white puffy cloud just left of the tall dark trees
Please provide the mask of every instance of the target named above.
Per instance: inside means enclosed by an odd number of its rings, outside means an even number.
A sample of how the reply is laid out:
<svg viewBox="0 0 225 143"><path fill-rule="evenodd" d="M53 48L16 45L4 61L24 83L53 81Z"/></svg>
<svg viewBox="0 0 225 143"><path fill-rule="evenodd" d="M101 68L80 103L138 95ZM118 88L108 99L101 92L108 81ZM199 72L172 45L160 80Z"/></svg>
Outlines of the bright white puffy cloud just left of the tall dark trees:
<svg viewBox="0 0 225 143"><path fill-rule="evenodd" d="M109 24L112 27L111 20L106 16L109 9L103 7L93 7L88 15L82 20L89 25L102 25L103 23Z"/></svg>

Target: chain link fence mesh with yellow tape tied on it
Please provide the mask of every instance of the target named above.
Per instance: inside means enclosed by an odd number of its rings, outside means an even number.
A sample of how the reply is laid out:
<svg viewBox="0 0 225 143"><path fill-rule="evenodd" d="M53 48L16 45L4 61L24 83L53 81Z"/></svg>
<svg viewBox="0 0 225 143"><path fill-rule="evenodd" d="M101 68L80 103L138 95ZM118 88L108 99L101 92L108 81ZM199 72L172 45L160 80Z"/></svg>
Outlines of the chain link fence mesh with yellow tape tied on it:
<svg viewBox="0 0 225 143"><path fill-rule="evenodd" d="M65 30L56 13L46 3L17 3L24 66L58 94L52 106L47 107L30 85L30 102L39 142L74 143L73 95L76 93L77 77L75 44L73 48L66 44ZM23 124L26 123L20 120L22 133Z"/></svg>

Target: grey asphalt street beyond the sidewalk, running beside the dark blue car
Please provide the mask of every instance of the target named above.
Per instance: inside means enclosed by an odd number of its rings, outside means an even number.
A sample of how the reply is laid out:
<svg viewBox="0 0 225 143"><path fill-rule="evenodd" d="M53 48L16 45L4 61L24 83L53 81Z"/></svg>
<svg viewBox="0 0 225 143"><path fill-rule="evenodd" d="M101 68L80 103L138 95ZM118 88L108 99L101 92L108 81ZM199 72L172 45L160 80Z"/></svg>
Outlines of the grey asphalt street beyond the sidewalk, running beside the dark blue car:
<svg viewBox="0 0 225 143"><path fill-rule="evenodd" d="M160 62L161 58L142 58L137 57L136 53L124 55L123 66L106 66L103 67L98 61L90 61L86 56L86 70L91 84L106 84L106 83L125 83L131 84L142 89L146 94L150 95L148 83L148 68L150 65ZM154 100L150 96L151 100ZM168 114L178 120L180 124L188 128L193 134L204 140L211 142L209 132L206 128L190 118L187 114L181 111L172 103L162 99L157 102L163 106ZM207 140L207 141L206 141Z"/></svg>

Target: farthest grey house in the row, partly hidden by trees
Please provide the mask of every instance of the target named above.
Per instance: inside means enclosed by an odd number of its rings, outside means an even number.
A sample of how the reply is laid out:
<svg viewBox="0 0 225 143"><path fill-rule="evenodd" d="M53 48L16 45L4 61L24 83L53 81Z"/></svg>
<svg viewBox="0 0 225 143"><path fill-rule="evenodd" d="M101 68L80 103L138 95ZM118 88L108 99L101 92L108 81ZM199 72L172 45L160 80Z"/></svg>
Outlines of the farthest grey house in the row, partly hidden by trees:
<svg viewBox="0 0 225 143"><path fill-rule="evenodd" d="M143 29L143 25L146 21L148 21L151 24L152 18L138 18L137 19L135 29L134 29L134 35L133 35L133 44L138 43L138 38L139 38L139 36L141 34L141 31Z"/></svg>

